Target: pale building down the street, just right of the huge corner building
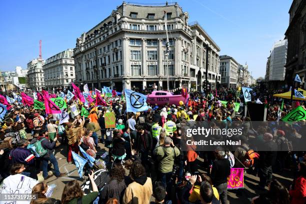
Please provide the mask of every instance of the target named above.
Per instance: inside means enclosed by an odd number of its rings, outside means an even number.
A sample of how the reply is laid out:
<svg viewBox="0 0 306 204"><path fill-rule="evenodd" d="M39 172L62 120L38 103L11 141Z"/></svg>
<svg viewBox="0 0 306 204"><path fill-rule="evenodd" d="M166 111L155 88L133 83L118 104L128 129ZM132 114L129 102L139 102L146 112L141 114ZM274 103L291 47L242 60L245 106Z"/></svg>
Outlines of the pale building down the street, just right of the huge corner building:
<svg viewBox="0 0 306 204"><path fill-rule="evenodd" d="M221 86L235 88L238 82L239 63L231 56L220 56Z"/></svg>

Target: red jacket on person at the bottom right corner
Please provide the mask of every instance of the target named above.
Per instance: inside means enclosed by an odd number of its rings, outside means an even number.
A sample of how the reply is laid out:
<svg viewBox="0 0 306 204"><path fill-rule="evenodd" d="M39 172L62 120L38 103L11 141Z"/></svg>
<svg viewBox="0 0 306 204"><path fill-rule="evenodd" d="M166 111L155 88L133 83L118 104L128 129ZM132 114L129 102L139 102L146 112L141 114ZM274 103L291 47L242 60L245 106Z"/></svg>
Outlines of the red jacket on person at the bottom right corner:
<svg viewBox="0 0 306 204"><path fill-rule="evenodd" d="M306 203L306 178L299 176L295 180L294 190L289 190L291 203L305 204Z"/></svg>

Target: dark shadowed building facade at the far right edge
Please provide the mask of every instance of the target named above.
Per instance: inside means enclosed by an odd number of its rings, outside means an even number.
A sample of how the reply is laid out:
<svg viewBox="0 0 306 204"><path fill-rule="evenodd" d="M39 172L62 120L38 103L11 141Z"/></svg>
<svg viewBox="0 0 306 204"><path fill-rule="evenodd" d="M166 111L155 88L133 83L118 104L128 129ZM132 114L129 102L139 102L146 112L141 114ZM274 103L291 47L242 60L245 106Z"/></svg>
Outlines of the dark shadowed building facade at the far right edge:
<svg viewBox="0 0 306 204"><path fill-rule="evenodd" d="M306 88L306 1L293 0L289 9L289 26L285 32L288 40L285 81L289 86L299 75Z"/></svg>

